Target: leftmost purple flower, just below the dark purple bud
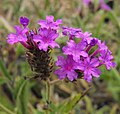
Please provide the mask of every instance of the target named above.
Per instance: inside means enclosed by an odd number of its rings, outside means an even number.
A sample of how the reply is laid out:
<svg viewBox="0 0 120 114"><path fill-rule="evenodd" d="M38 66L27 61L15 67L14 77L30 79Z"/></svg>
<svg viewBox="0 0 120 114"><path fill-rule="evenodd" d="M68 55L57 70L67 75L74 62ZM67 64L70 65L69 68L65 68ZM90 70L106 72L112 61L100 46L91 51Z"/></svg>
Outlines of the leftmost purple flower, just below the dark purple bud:
<svg viewBox="0 0 120 114"><path fill-rule="evenodd" d="M9 34L7 37L7 42L11 45L18 42L26 42L26 33L28 32L28 28L22 29L19 25L15 26L14 28L16 30L16 33Z"/></svg>

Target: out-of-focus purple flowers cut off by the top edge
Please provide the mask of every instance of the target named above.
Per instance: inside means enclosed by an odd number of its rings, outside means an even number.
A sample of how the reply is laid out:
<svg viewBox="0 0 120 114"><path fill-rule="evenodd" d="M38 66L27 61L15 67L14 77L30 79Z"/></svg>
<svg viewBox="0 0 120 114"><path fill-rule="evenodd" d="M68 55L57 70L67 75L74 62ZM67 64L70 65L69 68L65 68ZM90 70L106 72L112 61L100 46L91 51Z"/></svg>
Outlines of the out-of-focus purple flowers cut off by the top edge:
<svg viewBox="0 0 120 114"><path fill-rule="evenodd" d="M93 3L93 1L92 0L83 0L83 3L88 6L91 3ZM105 3L104 0L99 0L99 4L98 5L99 5L100 9L103 9L103 10L106 10L106 11L110 11L111 10L111 8Z"/></svg>

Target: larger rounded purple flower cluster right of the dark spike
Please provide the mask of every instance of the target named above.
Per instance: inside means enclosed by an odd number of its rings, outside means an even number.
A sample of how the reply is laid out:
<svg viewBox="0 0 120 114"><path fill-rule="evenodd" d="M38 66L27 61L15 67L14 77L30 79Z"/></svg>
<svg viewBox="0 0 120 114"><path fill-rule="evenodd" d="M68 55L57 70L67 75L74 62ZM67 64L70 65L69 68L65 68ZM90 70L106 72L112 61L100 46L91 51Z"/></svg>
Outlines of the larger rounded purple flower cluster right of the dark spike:
<svg viewBox="0 0 120 114"><path fill-rule="evenodd" d="M64 27L63 35L68 36L69 40L67 46L62 48L67 57L59 56L56 62L60 68L55 71L55 74L60 79L67 77L70 81L76 80L78 78L77 70L83 74L86 81L90 82L92 76L99 77L101 75L99 69L101 65L105 65L107 70L115 67L112 53L105 42L93 38L91 33L82 32L81 29L77 28ZM72 39L71 35L74 36ZM76 43L74 38L79 38L80 42Z"/></svg>

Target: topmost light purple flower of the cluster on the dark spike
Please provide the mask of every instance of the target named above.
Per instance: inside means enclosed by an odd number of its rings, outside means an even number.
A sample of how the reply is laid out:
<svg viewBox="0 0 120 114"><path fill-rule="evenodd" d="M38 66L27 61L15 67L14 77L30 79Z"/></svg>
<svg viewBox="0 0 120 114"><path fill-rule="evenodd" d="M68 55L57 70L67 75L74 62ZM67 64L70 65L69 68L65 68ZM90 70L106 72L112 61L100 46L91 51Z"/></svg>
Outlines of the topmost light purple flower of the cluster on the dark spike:
<svg viewBox="0 0 120 114"><path fill-rule="evenodd" d="M51 28L54 30L59 29L59 25L62 24L62 20L61 19L57 19L54 22L54 17L53 16L46 16L46 20L40 20L38 22L39 25L41 25L41 28Z"/></svg>

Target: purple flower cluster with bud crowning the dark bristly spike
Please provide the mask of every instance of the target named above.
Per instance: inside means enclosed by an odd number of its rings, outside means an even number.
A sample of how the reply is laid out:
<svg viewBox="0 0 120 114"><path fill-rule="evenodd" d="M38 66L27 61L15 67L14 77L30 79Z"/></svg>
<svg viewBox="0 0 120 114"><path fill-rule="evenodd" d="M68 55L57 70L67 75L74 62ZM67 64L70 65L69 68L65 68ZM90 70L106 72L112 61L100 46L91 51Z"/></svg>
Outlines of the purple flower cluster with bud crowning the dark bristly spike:
<svg viewBox="0 0 120 114"><path fill-rule="evenodd" d="M55 48L59 45L55 42L59 34L57 30L59 25L62 24L62 20L58 19L54 22L53 16L46 16L46 20L40 20L38 24L40 27L38 30L29 30L29 19L26 17L20 18L20 24L15 26L16 33L11 33L7 37L7 42L11 45L20 42L24 47L39 48L40 50L47 51L48 48Z"/></svg>

